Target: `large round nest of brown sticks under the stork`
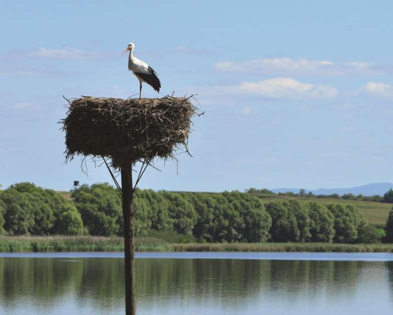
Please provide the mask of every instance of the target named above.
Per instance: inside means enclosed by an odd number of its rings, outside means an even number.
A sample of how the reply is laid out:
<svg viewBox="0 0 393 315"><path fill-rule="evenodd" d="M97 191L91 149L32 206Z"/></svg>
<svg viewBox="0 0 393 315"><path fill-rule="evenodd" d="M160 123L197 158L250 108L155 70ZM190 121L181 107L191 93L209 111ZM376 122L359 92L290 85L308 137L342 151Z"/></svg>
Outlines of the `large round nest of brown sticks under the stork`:
<svg viewBox="0 0 393 315"><path fill-rule="evenodd" d="M61 120L66 160L75 156L107 157L113 167L188 152L192 117L189 98L117 99L83 96L69 103Z"/></svg>

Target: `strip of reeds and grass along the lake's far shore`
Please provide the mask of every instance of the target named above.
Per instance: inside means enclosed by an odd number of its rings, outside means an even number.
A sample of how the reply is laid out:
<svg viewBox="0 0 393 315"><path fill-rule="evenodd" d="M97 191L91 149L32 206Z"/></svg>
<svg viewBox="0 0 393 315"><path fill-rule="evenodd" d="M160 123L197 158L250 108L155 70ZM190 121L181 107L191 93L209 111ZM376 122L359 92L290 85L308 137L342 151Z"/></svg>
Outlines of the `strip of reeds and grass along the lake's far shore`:
<svg viewBox="0 0 393 315"><path fill-rule="evenodd" d="M393 244L329 243L228 243L170 244L159 238L136 238L137 251L160 252L348 252L393 253ZM0 252L116 252L123 251L120 237L7 236L0 237Z"/></svg>

